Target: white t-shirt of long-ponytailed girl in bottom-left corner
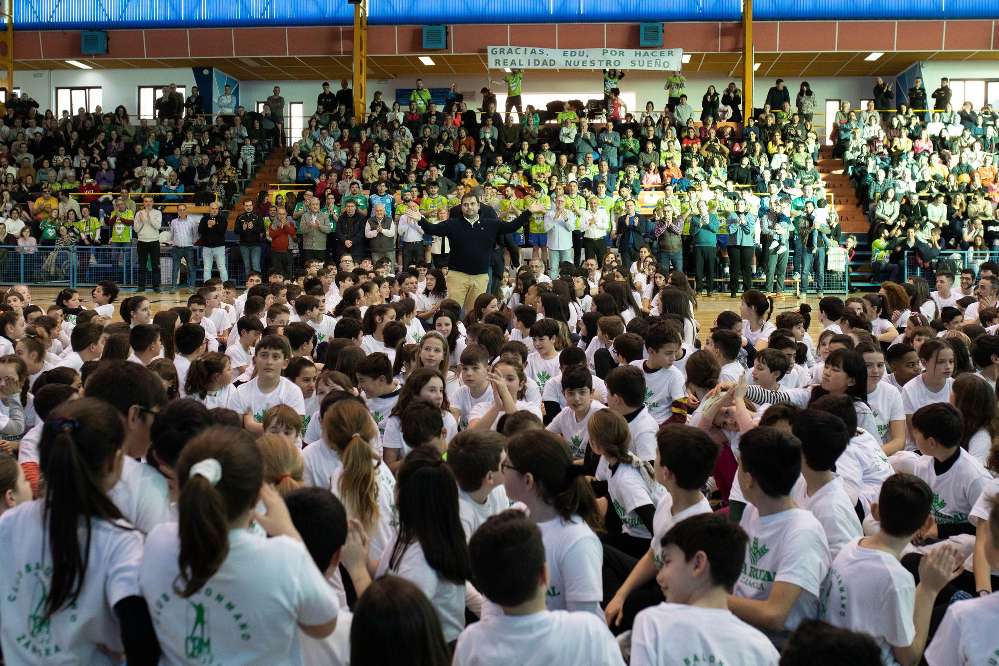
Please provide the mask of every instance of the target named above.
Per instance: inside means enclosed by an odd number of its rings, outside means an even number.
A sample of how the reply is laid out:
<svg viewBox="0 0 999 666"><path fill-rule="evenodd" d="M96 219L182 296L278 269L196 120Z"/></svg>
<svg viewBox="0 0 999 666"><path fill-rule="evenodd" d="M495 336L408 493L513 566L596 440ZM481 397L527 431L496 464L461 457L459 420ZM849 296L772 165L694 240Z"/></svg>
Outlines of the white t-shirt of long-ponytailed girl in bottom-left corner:
<svg viewBox="0 0 999 666"><path fill-rule="evenodd" d="M51 541L43 528L44 508L43 500L27 502L0 517L0 552L4 554L4 566L0 567L0 644L4 663L28 666L45 662L44 654L56 653L51 658L59 663L102 663L105 658L98 654L98 645L115 652L124 650L115 604L142 594L142 534L94 519L80 595L76 603L45 620L44 603L52 587L52 555Z"/></svg>

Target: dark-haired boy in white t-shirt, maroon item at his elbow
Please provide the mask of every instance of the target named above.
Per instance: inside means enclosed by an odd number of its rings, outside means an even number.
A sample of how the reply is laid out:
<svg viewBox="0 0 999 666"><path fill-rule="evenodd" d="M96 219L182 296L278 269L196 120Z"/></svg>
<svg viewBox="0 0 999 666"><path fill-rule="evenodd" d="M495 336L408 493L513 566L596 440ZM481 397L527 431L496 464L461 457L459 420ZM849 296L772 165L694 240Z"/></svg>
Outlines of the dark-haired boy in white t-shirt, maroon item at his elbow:
<svg viewBox="0 0 999 666"><path fill-rule="evenodd" d="M686 388L683 373L673 367L673 361L681 353L682 339L676 331L665 324L656 322L649 326L645 335L645 349L648 358L632 361L645 375L644 405L656 423L664 423L673 413L673 403L678 402L677 411L682 408L686 414Z"/></svg>

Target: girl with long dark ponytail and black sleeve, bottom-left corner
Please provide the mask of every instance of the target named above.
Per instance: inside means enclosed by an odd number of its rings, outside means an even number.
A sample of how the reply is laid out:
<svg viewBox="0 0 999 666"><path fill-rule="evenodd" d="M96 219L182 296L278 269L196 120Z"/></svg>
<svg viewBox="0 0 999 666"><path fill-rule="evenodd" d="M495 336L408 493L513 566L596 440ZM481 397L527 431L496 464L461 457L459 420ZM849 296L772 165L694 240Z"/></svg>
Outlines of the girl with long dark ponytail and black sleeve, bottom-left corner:
<svg viewBox="0 0 999 666"><path fill-rule="evenodd" d="M43 641L58 646L65 663L95 663L107 650L124 652L130 664L156 663L137 580L142 535L107 496L121 477L124 439L117 410L92 398L61 405L46 420L42 498L0 518L0 581L8 590L0 644L8 663L39 663Z"/></svg>

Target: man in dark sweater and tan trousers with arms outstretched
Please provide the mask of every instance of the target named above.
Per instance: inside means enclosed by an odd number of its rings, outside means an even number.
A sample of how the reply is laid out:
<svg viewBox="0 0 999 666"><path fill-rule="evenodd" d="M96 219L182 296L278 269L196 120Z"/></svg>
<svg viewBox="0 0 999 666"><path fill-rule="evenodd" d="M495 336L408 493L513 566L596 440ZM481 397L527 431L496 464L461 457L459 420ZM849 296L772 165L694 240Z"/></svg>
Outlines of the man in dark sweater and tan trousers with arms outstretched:
<svg viewBox="0 0 999 666"><path fill-rule="evenodd" d="M424 219L420 207L411 202L406 213L411 220L419 220L425 233L445 236L451 240L452 253L448 265L448 298L465 303L469 312L476 298L489 286L490 258L497 236L511 234L530 222L531 213L544 208L531 204L509 222L479 214L479 197L466 194L462 197L461 215L453 215L444 222L434 223Z"/></svg>

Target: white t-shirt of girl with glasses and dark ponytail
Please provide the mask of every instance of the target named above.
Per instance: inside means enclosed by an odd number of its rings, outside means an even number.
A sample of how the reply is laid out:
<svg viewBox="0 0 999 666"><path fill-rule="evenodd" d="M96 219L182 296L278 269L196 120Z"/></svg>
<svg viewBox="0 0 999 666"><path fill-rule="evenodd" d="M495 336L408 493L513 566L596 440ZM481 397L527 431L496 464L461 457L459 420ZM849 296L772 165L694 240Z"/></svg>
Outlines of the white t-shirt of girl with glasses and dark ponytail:
<svg viewBox="0 0 999 666"><path fill-rule="evenodd" d="M603 546L579 516L537 523L548 563L548 610L567 610L566 603L593 604L603 599ZM600 613L602 616L602 613Z"/></svg>

